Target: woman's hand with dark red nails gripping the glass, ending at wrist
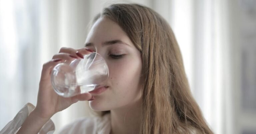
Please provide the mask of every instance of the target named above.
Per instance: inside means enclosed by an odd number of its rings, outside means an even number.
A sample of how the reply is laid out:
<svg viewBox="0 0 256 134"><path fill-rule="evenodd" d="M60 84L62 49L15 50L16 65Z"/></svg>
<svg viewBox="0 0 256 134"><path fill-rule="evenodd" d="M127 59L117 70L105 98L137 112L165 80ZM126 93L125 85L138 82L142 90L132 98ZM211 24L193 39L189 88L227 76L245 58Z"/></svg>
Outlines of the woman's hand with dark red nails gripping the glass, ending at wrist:
<svg viewBox="0 0 256 134"><path fill-rule="evenodd" d="M89 54L85 48L72 49L61 48L60 52L53 56L52 60L43 65L41 79L39 83L39 91L37 97L37 105L34 113L41 118L50 119L55 113L62 111L78 100L90 100L92 95L89 93L79 94L70 98L59 96L51 84L51 71L57 64L74 59L81 59L83 55Z"/></svg>

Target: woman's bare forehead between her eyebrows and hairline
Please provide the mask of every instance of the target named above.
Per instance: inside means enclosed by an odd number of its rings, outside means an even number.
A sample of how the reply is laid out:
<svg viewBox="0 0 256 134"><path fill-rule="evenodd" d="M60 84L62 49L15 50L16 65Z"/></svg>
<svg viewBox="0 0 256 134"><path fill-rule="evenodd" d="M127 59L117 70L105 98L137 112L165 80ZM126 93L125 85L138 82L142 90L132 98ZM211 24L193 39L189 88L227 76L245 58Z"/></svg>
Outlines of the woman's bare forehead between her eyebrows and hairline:
<svg viewBox="0 0 256 134"><path fill-rule="evenodd" d="M119 38L128 38L122 28L114 21L101 17L92 26L86 42L94 42L99 40L112 40Z"/></svg>

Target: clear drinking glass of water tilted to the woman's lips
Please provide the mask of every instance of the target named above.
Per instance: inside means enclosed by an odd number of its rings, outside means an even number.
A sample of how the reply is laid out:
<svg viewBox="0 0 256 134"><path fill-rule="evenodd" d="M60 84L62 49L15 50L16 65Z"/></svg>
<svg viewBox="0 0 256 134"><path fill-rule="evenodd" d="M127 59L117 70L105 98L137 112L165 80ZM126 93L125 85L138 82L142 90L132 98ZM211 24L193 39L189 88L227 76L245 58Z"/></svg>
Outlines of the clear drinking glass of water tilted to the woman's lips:
<svg viewBox="0 0 256 134"><path fill-rule="evenodd" d="M96 52L56 65L51 74L55 92L63 97L71 97L105 86L109 76L106 61Z"/></svg>

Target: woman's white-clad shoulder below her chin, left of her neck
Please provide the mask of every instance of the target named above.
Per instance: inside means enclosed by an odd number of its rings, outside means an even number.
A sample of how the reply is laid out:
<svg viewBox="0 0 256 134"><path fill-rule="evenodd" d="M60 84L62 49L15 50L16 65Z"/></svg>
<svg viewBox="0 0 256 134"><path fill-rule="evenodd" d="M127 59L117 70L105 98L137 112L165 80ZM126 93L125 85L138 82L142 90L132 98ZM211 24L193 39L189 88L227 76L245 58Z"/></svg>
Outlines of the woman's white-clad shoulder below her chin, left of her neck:
<svg viewBox="0 0 256 134"><path fill-rule="evenodd" d="M61 134L96 134L99 131L110 131L110 115L103 117L82 117L64 126Z"/></svg>

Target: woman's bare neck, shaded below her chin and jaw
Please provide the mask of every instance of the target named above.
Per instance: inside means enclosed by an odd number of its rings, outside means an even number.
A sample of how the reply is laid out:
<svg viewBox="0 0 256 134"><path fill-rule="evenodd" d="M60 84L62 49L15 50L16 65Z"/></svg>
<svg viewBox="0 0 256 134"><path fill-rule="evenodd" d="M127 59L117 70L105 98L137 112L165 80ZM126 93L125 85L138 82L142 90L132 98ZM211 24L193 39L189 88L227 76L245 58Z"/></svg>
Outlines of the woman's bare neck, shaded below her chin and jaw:
<svg viewBox="0 0 256 134"><path fill-rule="evenodd" d="M140 131L142 116L141 99L128 106L113 109L110 134L137 134Z"/></svg>

